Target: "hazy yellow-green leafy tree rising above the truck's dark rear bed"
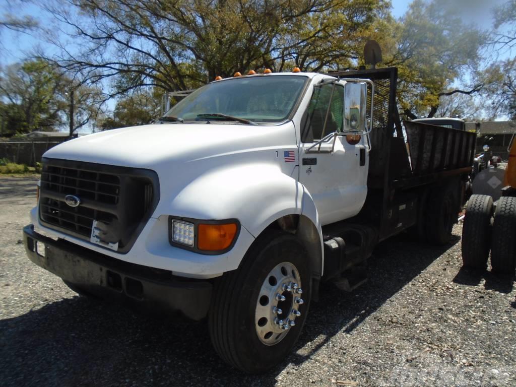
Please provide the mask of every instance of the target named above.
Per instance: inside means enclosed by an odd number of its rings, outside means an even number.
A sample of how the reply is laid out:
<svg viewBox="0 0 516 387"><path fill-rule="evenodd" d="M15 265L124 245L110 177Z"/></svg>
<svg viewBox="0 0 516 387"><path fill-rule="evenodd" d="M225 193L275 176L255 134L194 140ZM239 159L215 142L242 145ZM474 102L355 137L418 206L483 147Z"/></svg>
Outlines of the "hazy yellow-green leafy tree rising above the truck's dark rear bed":
<svg viewBox="0 0 516 387"><path fill-rule="evenodd" d="M478 63L486 36L464 25L445 0L415 0L400 21L382 27L384 65L398 67L405 118L433 117L442 97L475 94L485 86Z"/></svg>

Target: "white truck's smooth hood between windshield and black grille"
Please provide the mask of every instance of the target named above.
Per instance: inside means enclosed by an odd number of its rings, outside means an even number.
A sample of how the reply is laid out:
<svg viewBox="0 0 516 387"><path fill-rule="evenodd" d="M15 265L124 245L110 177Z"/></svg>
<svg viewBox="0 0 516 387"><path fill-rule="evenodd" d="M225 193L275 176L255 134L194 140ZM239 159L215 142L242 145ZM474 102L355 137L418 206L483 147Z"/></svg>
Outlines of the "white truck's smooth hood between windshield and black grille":
<svg viewBox="0 0 516 387"><path fill-rule="evenodd" d="M151 124L79 137L43 157L158 170L223 155L292 149L292 122L275 126L240 124ZM273 146L271 147L271 144ZM259 152L261 153L261 152Z"/></svg>

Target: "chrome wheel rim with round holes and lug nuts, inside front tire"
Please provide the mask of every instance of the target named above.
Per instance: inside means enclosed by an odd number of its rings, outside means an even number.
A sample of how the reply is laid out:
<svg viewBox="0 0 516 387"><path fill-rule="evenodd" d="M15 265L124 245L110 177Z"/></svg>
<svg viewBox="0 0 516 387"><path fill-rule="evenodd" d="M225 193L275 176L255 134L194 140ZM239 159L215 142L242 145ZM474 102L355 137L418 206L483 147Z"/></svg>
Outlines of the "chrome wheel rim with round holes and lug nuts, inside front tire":
<svg viewBox="0 0 516 387"><path fill-rule="evenodd" d="M263 344L278 344L296 325L304 303L302 293L299 271L290 262L276 265L265 277L254 315L256 334Z"/></svg>

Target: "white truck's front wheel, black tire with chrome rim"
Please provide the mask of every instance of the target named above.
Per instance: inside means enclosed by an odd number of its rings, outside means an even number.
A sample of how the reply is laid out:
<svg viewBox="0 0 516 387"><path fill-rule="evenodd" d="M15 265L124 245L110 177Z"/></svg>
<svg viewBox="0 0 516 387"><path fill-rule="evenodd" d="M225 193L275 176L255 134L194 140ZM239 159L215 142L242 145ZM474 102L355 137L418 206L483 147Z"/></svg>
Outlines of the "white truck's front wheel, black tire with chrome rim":
<svg viewBox="0 0 516 387"><path fill-rule="evenodd" d="M291 352L311 295L308 256L294 235L266 232L214 284L209 331L220 357L256 374Z"/></svg>

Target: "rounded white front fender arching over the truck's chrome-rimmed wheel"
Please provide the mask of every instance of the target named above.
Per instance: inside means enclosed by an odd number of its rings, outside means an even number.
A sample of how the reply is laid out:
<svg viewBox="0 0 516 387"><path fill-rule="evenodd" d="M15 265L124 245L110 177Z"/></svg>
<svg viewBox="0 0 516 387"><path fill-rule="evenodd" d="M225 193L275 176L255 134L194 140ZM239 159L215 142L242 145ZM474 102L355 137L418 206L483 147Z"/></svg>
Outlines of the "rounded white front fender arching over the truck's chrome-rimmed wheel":
<svg viewBox="0 0 516 387"><path fill-rule="evenodd" d="M236 218L255 238L285 215L302 215L305 221L300 223L300 237L307 241L316 271L322 274L322 234L314 201L301 183L278 166L253 164L211 170L169 202L163 202L169 204L161 208L160 214L195 219ZM239 263L231 266L236 268Z"/></svg>

